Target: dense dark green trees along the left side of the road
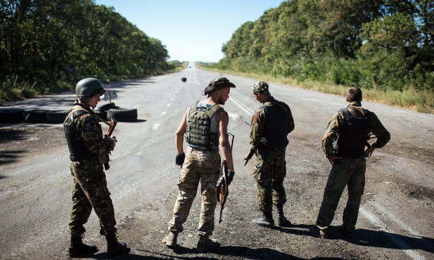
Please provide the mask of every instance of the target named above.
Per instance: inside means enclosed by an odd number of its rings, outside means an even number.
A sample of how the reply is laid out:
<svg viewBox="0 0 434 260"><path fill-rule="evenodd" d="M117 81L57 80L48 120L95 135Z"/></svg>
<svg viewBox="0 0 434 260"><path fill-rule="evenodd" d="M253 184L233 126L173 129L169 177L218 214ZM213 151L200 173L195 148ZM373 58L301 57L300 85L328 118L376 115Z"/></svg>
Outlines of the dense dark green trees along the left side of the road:
<svg viewBox="0 0 434 260"><path fill-rule="evenodd" d="M161 74L167 50L92 0L0 0L0 100Z"/></svg>

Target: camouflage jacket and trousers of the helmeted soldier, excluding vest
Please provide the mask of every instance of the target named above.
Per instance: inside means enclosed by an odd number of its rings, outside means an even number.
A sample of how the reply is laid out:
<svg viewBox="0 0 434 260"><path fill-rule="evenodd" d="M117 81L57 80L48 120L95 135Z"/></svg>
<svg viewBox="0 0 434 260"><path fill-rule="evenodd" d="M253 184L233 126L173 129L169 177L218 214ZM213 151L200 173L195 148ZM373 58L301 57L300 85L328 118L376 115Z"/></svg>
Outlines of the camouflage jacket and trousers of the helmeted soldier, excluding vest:
<svg viewBox="0 0 434 260"><path fill-rule="evenodd" d="M82 109L79 105L75 105L70 115L75 110ZM72 133L76 140L84 143L86 148L95 156L88 158L89 160L71 160L70 162L71 174L74 177L72 182L73 204L69 223L70 233L82 235L85 232L83 225L87 223L93 207L100 221L101 235L114 235L116 232L115 212L107 188L103 161L108 153L114 149L115 144L110 139L104 138L101 125L89 113L75 118L74 122L75 126L72 128Z"/></svg>

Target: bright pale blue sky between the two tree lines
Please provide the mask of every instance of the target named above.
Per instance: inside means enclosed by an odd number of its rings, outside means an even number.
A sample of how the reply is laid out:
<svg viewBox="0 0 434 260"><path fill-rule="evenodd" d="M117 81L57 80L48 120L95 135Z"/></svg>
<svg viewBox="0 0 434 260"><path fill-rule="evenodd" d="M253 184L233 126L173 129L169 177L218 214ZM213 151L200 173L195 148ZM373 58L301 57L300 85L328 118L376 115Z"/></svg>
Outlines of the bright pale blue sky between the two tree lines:
<svg viewBox="0 0 434 260"><path fill-rule="evenodd" d="M254 22L285 0L94 0L113 6L148 37L159 39L170 60L218 62L222 46L244 22Z"/></svg>

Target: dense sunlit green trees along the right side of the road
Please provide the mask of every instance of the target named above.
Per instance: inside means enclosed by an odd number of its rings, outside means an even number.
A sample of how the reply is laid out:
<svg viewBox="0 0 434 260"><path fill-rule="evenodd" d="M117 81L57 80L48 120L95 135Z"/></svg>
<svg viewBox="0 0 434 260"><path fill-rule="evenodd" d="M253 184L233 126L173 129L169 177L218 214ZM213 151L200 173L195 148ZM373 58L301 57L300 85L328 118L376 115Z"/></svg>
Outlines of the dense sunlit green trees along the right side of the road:
<svg viewBox="0 0 434 260"><path fill-rule="evenodd" d="M245 22L222 51L221 70L432 92L434 1L288 0Z"/></svg>

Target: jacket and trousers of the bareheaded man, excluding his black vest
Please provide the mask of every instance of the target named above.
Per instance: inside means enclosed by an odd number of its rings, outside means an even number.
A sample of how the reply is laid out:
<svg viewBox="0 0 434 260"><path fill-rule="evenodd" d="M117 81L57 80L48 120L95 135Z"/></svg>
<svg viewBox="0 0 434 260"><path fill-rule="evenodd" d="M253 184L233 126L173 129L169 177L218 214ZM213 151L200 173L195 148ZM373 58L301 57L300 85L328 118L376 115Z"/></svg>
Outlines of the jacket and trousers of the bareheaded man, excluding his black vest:
<svg viewBox="0 0 434 260"><path fill-rule="evenodd" d="M358 102L352 102L348 106L362 110L362 105ZM357 116L355 110L349 109L348 112L352 116ZM382 148L390 140L390 133L381 124L374 112L370 113L369 131L377 137L372 146ZM339 110L328 123L328 128L322 139L322 148L326 157L333 157L333 155L340 156L333 142L338 139L339 131L344 124L345 115L343 114L343 110ZM355 229L360 201L364 191L365 171L366 160L364 157L343 157L333 162L333 167L324 190L323 202L319 209L316 223L318 228L326 230L330 226L336 212L336 207L338 207L340 196L345 186L348 186L348 200L343 212L343 230L352 232Z"/></svg>

